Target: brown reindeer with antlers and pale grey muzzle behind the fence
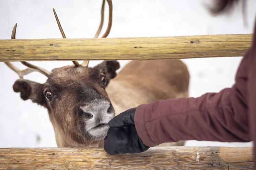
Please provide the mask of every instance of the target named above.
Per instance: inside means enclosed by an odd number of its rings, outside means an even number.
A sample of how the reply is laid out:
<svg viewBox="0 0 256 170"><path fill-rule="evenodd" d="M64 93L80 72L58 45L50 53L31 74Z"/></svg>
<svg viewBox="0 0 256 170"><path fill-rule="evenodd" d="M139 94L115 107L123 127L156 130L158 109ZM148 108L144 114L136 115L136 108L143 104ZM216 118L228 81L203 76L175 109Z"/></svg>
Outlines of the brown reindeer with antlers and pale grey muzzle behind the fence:
<svg viewBox="0 0 256 170"><path fill-rule="evenodd" d="M95 38L102 29L104 2ZM112 1L107 2L109 21L102 38L107 37L112 25ZM55 10L54 14L62 37L66 38ZM15 39L16 26L12 39ZM115 113L155 100L188 96L189 74L180 60L132 61L118 75L117 61L103 61L92 68L88 66L89 61L81 65L72 62L73 65L51 72L28 62L21 62L27 66L24 70L5 62L20 77L13 84L13 90L20 92L21 99L30 99L47 108L58 147L103 147L107 123ZM41 84L23 79L33 71L47 76L47 81ZM180 141L166 145L183 144L184 141Z"/></svg>

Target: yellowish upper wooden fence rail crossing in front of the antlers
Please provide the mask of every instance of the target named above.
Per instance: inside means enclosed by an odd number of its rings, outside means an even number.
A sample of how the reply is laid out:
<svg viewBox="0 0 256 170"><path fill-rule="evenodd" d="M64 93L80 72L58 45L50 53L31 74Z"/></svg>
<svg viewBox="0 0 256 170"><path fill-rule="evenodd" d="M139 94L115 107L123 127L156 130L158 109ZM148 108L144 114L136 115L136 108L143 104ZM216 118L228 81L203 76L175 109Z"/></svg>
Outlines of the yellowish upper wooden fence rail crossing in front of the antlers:
<svg viewBox="0 0 256 170"><path fill-rule="evenodd" d="M0 40L0 61L152 60L243 56L252 34Z"/></svg>

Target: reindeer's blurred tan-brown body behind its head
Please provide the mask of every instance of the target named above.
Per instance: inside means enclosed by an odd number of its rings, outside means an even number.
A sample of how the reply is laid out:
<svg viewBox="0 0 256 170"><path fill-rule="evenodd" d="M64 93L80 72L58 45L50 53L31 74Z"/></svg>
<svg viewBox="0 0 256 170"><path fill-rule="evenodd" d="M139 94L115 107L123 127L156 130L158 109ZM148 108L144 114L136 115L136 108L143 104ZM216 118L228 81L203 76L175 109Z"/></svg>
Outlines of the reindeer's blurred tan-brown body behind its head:
<svg viewBox="0 0 256 170"><path fill-rule="evenodd" d="M132 61L106 88L116 115L155 100L188 97L189 74L180 60Z"/></svg>

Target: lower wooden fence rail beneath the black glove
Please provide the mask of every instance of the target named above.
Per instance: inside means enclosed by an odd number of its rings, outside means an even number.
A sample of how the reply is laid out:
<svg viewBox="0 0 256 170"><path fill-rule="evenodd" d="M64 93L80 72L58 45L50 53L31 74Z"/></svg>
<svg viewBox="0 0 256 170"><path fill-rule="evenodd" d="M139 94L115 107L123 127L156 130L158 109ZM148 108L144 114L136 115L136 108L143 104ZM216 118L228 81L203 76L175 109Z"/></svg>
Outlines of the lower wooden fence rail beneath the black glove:
<svg viewBox="0 0 256 170"><path fill-rule="evenodd" d="M1 148L0 169L253 169L252 147L153 147L108 155L103 148Z"/></svg>

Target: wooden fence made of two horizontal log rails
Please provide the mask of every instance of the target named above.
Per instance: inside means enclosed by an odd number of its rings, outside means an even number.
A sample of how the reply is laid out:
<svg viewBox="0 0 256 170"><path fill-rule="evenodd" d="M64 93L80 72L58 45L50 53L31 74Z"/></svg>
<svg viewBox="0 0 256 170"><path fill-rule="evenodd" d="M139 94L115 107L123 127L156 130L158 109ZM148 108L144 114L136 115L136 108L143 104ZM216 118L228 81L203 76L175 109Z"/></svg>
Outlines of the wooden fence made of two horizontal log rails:
<svg viewBox="0 0 256 170"><path fill-rule="evenodd" d="M252 35L0 40L0 61L156 60L243 56ZM0 169L253 169L252 147L153 147L108 155L103 148L0 148Z"/></svg>

